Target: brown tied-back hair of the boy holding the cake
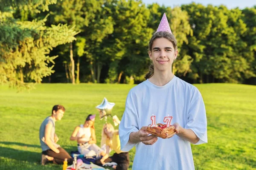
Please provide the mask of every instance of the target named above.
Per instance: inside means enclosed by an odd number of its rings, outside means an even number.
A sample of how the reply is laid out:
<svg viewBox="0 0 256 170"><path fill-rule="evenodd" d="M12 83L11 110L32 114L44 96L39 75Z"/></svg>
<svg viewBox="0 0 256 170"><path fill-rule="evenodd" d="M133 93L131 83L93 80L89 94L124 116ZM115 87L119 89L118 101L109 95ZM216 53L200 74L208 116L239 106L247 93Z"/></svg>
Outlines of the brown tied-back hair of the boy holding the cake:
<svg viewBox="0 0 256 170"><path fill-rule="evenodd" d="M148 43L148 51L152 51L153 42L157 38L166 38L167 40L172 42L173 47L175 48L175 50L178 48L177 47L177 40L175 39L173 34L167 32L167 31L160 31L160 32L154 33L153 36L151 37L151 39ZM145 75L145 79L149 79L150 77L153 76L153 74L154 74L154 64L151 63L149 65L149 68L148 68L148 73Z"/></svg>

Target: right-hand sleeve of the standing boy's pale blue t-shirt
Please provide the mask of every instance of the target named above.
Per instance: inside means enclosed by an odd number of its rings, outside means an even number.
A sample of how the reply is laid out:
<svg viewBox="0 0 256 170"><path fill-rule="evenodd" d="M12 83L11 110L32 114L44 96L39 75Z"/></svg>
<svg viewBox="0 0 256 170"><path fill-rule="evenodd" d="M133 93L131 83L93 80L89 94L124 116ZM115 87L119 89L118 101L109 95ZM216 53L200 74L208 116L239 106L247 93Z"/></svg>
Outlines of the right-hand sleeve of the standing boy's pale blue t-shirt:
<svg viewBox="0 0 256 170"><path fill-rule="evenodd" d="M186 129L191 129L200 139L196 144L207 143L207 118L203 97L200 92L196 93L191 101L188 113Z"/></svg>

